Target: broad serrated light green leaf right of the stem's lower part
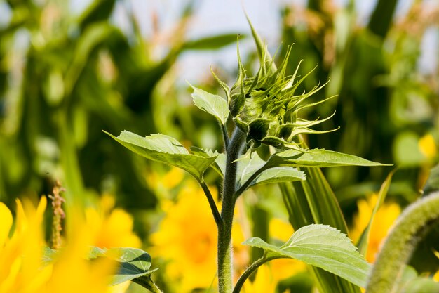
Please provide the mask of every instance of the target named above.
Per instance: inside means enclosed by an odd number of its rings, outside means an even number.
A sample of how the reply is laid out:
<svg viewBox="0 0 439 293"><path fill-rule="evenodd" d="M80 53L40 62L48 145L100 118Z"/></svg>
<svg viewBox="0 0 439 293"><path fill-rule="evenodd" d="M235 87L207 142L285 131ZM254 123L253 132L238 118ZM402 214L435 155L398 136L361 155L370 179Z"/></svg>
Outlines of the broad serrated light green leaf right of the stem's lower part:
<svg viewBox="0 0 439 293"><path fill-rule="evenodd" d="M345 234L321 224L300 228L281 247L270 245L260 238L250 238L243 244L264 249L267 259L298 259L360 287L365 287L370 271L370 264Z"/></svg>

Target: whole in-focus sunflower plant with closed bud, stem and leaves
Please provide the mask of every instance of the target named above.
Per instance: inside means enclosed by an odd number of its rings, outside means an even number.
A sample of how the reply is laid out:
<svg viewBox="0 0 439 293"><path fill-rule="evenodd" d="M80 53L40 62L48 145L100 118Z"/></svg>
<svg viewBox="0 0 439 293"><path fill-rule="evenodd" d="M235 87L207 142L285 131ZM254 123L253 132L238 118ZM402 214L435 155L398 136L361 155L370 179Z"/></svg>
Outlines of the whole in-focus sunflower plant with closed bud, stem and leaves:
<svg viewBox="0 0 439 293"><path fill-rule="evenodd" d="M248 75L238 50L238 77L232 86L229 87L212 72L224 90L224 96L191 86L195 105L219 122L224 153L195 147L187 150L175 138L163 134L144 137L130 131L122 131L117 137L109 134L138 155L187 171L201 186L217 226L220 293L240 292L245 280L259 266L273 259L298 259L357 287L365 287L370 271L370 264L345 234L330 226L311 224L299 228L280 247L255 237L246 240L245 245L264 249L264 255L244 271L236 285L233 284L231 235L234 210L236 200L245 190L266 183L306 181L304 171L299 169L301 167L381 165L340 152L318 148L311 150L302 143L301 134L326 132L317 131L313 126L330 117L308 120L302 116L305 108L315 107L327 100L310 101L325 84L309 92L298 92L306 76L285 74L290 52L291 47L281 65L276 67L266 48L262 48L259 70L255 75ZM262 145L268 145L272 150L268 159L258 155L257 149ZM223 179L219 207L203 178L208 168L215 169ZM152 289L160 292L157 287Z"/></svg>

